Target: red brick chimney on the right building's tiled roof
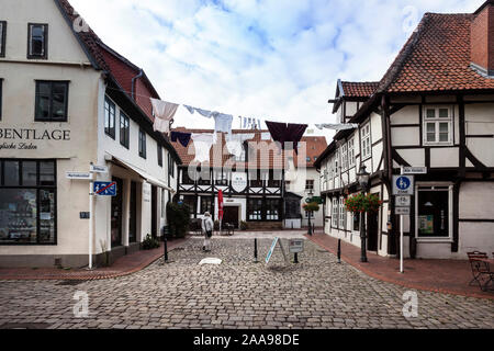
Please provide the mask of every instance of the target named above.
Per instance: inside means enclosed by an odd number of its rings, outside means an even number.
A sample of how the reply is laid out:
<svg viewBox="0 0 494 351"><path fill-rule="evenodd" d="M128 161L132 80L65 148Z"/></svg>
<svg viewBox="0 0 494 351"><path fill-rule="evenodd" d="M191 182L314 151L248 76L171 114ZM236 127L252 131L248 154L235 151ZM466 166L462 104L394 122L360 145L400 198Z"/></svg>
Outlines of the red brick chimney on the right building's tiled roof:
<svg viewBox="0 0 494 351"><path fill-rule="evenodd" d="M485 1L474 15L470 39L472 67L481 75L494 78L494 0Z"/></svg>

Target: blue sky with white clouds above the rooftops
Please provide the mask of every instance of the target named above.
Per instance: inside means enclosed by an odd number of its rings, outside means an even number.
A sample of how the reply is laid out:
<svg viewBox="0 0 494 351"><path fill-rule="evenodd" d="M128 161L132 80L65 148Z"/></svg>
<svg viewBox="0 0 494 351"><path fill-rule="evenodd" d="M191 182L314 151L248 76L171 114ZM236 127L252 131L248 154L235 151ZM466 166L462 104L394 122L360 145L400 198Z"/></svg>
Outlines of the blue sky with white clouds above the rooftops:
<svg viewBox="0 0 494 351"><path fill-rule="evenodd" d="M379 81L425 12L484 0L70 0L162 100L262 121L335 123L338 79ZM179 107L173 127L213 128ZM266 128L266 125L262 125ZM334 132L314 129L330 141Z"/></svg>

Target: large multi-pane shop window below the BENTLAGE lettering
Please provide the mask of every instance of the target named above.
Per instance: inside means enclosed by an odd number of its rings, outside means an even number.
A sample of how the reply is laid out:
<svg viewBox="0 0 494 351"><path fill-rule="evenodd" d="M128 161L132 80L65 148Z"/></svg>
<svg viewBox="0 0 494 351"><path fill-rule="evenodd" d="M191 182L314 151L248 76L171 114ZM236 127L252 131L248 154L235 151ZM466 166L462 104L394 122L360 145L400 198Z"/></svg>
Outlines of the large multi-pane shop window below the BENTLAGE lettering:
<svg viewBox="0 0 494 351"><path fill-rule="evenodd" d="M55 161L0 160L0 245L55 244Z"/></svg>

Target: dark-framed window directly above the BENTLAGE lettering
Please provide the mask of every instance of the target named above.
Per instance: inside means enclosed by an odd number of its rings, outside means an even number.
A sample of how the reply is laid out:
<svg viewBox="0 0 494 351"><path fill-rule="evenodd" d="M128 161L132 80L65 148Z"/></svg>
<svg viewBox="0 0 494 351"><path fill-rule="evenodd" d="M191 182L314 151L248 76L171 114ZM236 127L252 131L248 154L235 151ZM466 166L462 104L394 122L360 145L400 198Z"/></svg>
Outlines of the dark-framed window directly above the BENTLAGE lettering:
<svg viewBox="0 0 494 351"><path fill-rule="evenodd" d="M35 121L67 122L68 82L36 81Z"/></svg>

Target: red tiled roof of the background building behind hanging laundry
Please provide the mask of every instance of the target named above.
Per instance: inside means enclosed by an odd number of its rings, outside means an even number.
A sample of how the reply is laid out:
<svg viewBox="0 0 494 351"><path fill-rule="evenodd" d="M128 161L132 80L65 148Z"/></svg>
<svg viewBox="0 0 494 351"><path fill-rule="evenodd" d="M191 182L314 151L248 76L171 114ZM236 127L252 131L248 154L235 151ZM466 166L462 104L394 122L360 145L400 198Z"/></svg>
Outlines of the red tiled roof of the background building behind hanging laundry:
<svg viewBox="0 0 494 351"><path fill-rule="evenodd" d="M194 133L194 134L212 134L214 131L212 129L188 129L183 127L179 127L173 129L176 132L182 132L182 133ZM268 152L269 152L269 168L273 169L281 169L283 168L283 159L284 159L284 152L278 154L278 147L276 146L274 141L270 138L269 140L262 140L261 136L263 134L270 135L269 131L251 131L251 129L234 129L232 131L233 134L254 134L255 137L252 139L247 140L247 143L250 141L263 141L268 144ZM321 152L324 151L324 149L327 146L326 138L324 136L311 136L311 137L303 137L301 143L306 143L306 157L311 158L311 160L306 160L306 167L313 167L314 162L316 161L316 158L321 155ZM193 165L193 160L195 158L195 148L193 145L193 141L191 140L188 145L188 147L183 147L180 143L172 143L171 145L177 150L177 154L180 156L182 162L184 166ZM232 159L233 156L228 155L227 148L225 147L226 141L224 138L224 134L218 133L217 134L217 141L210 151L210 160L211 162L204 162L203 165L207 166L211 165L213 167L217 167L217 165L224 166L229 159ZM272 150L272 151L271 151ZM262 160L262 157L266 154L262 151L258 152L257 160L249 161L249 162L242 162L242 165L247 169L250 166L254 168L260 168L260 163ZM293 159L295 162L295 166L297 165L297 156L293 152ZM222 160L222 162L220 162ZM237 162L238 163L238 162ZM234 166L234 165L231 165Z"/></svg>

